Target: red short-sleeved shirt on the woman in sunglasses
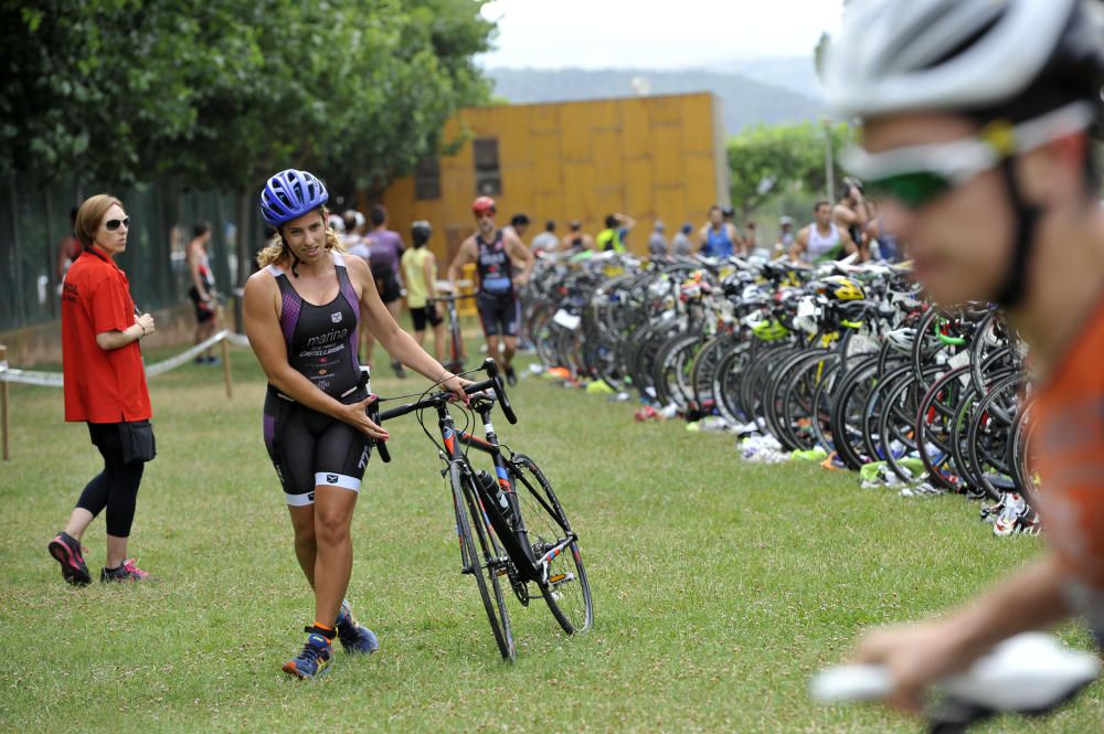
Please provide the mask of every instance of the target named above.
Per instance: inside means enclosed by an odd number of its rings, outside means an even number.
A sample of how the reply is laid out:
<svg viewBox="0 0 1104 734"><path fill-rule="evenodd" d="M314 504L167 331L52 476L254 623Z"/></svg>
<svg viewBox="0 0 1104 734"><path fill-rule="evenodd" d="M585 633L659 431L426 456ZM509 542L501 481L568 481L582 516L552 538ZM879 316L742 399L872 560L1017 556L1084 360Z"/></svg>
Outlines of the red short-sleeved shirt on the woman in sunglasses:
<svg viewBox="0 0 1104 734"><path fill-rule="evenodd" d="M62 371L65 419L120 423L152 417L141 350L134 341L110 351L96 334L135 325L126 274L93 248L84 252L62 284Z"/></svg>

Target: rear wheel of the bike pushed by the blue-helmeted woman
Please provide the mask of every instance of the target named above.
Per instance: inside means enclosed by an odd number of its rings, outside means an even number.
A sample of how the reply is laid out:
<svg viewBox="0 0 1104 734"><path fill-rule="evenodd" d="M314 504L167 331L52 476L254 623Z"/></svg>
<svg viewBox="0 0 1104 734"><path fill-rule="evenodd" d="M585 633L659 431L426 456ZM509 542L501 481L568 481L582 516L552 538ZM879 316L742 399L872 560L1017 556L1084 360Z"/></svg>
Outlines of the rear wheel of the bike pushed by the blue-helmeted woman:
<svg viewBox="0 0 1104 734"><path fill-rule="evenodd" d="M509 467L541 595L563 631L569 635L585 631L594 624L594 605L577 535L537 462L523 454L514 454Z"/></svg>

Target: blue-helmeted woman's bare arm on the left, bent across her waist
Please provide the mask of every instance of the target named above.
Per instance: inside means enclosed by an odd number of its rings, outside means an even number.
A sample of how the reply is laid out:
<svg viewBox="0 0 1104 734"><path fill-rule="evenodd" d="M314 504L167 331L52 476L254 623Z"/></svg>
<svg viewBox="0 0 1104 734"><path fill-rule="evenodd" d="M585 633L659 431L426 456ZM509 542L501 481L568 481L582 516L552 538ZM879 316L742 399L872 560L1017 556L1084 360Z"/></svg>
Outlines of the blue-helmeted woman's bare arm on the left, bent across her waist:
<svg viewBox="0 0 1104 734"><path fill-rule="evenodd" d="M386 438L388 432L368 419L365 407L374 397L346 405L315 386L287 361L287 345L279 327L279 286L266 272L255 273L245 284L243 315L245 334L268 382L296 403L343 421L369 436Z"/></svg>

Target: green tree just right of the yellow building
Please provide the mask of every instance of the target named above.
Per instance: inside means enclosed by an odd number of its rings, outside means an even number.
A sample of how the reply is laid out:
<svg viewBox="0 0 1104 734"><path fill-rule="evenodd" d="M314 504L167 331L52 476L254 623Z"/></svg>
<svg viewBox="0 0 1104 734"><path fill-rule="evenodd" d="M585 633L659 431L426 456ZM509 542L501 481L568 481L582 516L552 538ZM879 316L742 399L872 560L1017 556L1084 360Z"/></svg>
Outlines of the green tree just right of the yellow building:
<svg viewBox="0 0 1104 734"><path fill-rule="evenodd" d="M843 123L758 126L729 140L729 171L734 204L746 217L767 198L787 189L824 191L825 152L834 160L852 139Z"/></svg>

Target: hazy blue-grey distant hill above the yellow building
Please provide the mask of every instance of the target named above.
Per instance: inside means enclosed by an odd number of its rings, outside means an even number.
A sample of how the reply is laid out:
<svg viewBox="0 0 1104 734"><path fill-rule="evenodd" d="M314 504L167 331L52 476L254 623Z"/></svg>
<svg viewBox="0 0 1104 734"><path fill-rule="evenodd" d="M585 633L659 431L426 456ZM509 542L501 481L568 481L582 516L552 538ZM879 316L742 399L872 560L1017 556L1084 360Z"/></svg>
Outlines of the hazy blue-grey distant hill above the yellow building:
<svg viewBox="0 0 1104 734"><path fill-rule="evenodd" d="M633 96L640 93L641 81L648 94L712 92L724 107L729 135L752 125L815 120L824 113L817 99L739 74L580 68L491 68L487 74L495 82L495 94L517 104Z"/></svg>

